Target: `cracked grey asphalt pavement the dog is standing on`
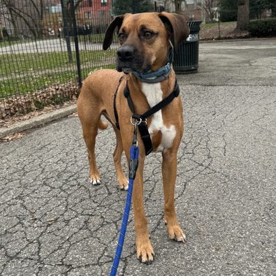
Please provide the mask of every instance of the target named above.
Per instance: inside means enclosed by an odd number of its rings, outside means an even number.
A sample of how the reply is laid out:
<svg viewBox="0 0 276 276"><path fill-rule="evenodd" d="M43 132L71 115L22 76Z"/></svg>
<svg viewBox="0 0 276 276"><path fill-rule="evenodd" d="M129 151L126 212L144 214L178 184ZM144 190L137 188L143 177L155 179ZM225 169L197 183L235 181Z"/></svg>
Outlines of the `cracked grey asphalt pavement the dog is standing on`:
<svg viewBox="0 0 276 276"><path fill-rule="evenodd" d="M178 82L175 203L187 243L167 237L161 156L150 154L155 261L136 260L131 212L117 275L275 275L276 40L200 43L198 73ZM109 275L126 197L114 148L112 128L99 131L102 184L92 186L78 117L0 144L1 275Z"/></svg>

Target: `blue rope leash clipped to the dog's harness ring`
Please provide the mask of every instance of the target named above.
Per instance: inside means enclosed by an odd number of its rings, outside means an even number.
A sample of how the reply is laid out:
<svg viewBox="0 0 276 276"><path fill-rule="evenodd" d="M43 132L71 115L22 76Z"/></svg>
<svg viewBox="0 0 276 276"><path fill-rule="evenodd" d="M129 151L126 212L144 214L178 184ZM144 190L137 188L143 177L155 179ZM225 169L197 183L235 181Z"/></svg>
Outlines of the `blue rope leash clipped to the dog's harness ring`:
<svg viewBox="0 0 276 276"><path fill-rule="evenodd" d="M133 181L136 175L136 170L138 168L138 156L139 156L139 148L137 143L137 125L140 124L136 122L134 125L134 136L133 136L133 145L131 145L130 150L130 160L129 160L129 190L126 196L126 204L124 205L124 217L121 225L121 231L119 233L119 239L117 244L117 249L114 257L114 261L112 264L112 268L110 271L110 276L115 276L117 273L117 268L119 266L119 259L122 254L122 249L124 245L124 235L126 234L126 226L129 220L129 211L131 209L131 196L133 189Z"/></svg>

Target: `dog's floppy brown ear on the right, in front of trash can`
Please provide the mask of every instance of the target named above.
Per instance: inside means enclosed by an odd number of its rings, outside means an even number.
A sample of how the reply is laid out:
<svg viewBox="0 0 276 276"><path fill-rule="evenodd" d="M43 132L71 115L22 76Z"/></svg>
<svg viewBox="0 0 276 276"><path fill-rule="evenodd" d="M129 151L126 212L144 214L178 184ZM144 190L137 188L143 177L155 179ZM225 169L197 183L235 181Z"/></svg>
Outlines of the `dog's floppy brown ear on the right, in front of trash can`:
<svg viewBox="0 0 276 276"><path fill-rule="evenodd" d="M183 15L177 13L159 13L159 17L173 37L173 46L177 48L190 33L189 26Z"/></svg>

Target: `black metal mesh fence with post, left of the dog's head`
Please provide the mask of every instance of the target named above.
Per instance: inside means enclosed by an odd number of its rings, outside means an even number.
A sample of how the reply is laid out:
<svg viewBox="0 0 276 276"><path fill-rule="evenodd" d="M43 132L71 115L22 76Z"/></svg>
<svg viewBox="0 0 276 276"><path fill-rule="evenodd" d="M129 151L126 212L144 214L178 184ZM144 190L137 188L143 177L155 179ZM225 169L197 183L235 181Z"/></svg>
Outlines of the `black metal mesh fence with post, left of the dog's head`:
<svg viewBox="0 0 276 276"><path fill-rule="evenodd" d="M0 0L0 119L76 96L82 79L113 68L103 52L111 0Z"/></svg>

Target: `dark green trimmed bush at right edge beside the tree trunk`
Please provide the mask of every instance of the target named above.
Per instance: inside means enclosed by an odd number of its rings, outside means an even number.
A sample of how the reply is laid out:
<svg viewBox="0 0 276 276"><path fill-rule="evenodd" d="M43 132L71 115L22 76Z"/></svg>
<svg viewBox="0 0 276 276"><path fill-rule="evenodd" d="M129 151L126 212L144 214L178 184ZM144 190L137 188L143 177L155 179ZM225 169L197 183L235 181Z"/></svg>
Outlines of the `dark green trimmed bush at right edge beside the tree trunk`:
<svg viewBox="0 0 276 276"><path fill-rule="evenodd" d="M251 36L276 36L276 18L252 20L249 22L248 31Z"/></svg>

